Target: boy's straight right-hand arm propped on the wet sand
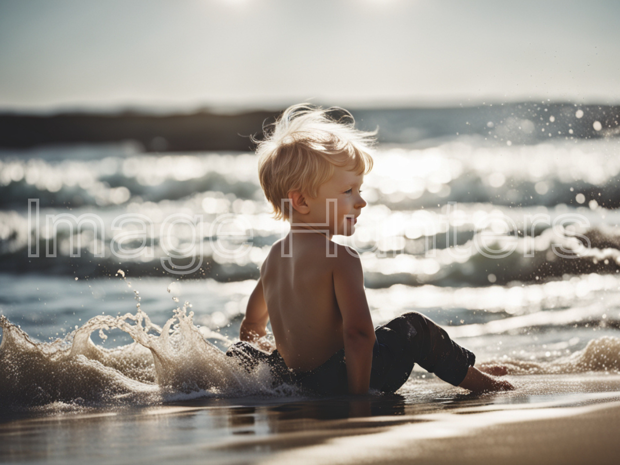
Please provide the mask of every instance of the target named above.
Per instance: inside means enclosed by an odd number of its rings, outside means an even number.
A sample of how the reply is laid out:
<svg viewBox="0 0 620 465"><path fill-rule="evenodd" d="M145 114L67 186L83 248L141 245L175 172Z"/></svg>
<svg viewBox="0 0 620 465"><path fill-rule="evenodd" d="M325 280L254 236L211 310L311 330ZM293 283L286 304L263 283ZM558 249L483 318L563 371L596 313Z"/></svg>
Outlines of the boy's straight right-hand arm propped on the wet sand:
<svg viewBox="0 0 620 465"><path fill-rule="evenodd" d="M370 386L373 321L364 291L364 272L359 255L340 249L334 266L334 290L342 314L342 332L350 394L366 394Z"/></svg>

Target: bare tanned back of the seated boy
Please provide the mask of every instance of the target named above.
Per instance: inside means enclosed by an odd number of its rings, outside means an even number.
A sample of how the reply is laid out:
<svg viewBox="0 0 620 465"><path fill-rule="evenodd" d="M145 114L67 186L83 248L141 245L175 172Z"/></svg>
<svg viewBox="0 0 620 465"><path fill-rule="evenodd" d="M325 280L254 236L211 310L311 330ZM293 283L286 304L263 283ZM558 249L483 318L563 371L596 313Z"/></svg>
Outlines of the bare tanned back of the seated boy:
<svg viewBox="0 0 620 465"><path fill-rule="evenodd" d="M283 257L291 245L294 253ZM312 370L344 347L327 245L330 254L340 247L317 232L289 234L273 244L260 272L276 347L296 371Z"/></svg>

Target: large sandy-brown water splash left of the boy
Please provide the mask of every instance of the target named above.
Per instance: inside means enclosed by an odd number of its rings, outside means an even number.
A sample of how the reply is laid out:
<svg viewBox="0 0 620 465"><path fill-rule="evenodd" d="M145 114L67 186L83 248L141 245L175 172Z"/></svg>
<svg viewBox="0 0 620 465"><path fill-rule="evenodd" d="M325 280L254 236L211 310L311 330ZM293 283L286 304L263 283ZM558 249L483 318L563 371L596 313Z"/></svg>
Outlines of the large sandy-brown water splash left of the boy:
<svg viewBox="0 0 620 465"><path fill-rule="evenodd" d="M205 339L189 302L159 327L141 309L139 291L134 294L135 314L95 316L53 342L36 342L0 316L0 406L152 404L179 396L277 392L267 365L250 373ZM134 342L112 349L92 342L93 332L105 339L112 329Z"/></svg>

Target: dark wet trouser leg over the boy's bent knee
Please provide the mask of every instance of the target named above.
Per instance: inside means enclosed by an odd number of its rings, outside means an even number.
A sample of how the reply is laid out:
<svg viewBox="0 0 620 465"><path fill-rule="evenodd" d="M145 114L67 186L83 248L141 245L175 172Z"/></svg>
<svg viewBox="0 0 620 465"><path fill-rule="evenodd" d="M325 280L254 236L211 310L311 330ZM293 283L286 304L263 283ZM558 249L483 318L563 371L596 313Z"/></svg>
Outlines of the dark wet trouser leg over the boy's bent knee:
<svg viewBox="0 0 620 465"><path fill-rule="evenodd" d="M476 356L451 340L448 333L418 312L405 313L376 330L371 386L394 392L407 381L414 364L453 386L466 377Z"/></svg>

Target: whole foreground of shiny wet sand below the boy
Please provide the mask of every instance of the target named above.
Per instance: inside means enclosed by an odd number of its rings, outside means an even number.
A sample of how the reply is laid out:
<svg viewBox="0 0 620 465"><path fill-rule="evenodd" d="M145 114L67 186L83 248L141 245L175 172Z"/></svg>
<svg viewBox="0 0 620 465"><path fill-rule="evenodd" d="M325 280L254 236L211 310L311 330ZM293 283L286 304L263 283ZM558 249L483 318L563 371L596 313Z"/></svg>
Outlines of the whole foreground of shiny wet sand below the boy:
<svg viewBox="0 0 620 465"><path fill-rule="evenodd" d="M353 399L195 399L3 415L2 463L617 463L620 375L510 377L472 396L436 379ZM64 410L64 411L63 411Z"/></svg>

